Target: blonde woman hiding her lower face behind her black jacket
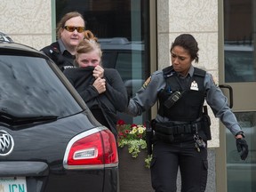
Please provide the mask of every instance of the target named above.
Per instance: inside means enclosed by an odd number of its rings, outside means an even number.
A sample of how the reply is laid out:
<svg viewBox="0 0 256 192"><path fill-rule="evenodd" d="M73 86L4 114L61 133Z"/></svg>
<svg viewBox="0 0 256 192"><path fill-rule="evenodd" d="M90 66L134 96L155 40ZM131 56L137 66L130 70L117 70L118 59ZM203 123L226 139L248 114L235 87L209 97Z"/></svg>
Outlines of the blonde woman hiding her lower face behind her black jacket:
<svg viewBox="0 0 256 192"><path fill-rule="evenodd" d="M116 69L103 68L98 39L91 31L84 31L84 41L77 45L75 65L64 75L76 88L93 116L116 136L116 111L124 112L128 96L123 80Z"/></svg>

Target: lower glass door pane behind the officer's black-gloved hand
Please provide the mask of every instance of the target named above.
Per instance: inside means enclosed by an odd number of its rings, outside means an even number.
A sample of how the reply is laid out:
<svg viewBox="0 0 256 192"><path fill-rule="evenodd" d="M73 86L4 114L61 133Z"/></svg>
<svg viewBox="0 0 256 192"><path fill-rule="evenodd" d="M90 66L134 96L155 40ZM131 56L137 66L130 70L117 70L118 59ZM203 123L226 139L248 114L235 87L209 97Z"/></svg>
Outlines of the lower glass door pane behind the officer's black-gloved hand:
<svg viewBox="0 0 256 192"><path fill-rule="evenodd" d="M256 112L236 113L236 117L249 145L249 155L245 161L241 160L237 153L234 135L227 129L228 192L254 192L256 191Z"/></svg>

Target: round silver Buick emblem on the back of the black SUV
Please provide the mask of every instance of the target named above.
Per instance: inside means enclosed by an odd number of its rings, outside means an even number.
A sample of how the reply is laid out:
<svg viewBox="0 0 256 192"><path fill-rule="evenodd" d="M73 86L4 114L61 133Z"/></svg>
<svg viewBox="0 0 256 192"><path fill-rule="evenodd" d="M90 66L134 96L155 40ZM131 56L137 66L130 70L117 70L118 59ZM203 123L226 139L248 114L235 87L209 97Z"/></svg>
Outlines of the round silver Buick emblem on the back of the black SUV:
<svg viewBox="0 0 256 192"><path fill-rule="evenodd" d="M12 153L13 147L14 140L12 136L8 132L0 130L0 156L8 156Z"/></svg>

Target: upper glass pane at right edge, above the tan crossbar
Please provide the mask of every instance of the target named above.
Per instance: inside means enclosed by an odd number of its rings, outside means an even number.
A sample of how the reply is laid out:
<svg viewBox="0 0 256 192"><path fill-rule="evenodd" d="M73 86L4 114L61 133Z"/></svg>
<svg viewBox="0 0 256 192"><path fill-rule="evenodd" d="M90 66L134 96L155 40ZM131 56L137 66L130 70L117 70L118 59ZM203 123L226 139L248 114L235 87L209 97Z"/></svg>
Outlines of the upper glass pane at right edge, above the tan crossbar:
<svg viewBox="0 0 256 192"><path fill-rule="evenodd" d="M224 4L225 82L255 82L253 1L225 0Z"/></svg>

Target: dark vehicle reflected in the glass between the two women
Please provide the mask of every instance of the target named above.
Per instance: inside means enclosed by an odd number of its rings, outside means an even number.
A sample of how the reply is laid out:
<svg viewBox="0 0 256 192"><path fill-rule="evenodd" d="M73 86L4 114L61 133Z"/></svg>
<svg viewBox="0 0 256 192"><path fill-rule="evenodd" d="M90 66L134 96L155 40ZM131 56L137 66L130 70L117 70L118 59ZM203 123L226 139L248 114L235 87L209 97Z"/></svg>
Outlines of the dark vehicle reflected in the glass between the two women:
<svg viewBox="0 0 256 192"><path fill-rule="evenodd" d="M124 81L128 96L131 98L149 76L149 66L145 55L144 42L128 41L125 37L99 39L104 68L116 68ZM137 122L145 122L149 111L137 116ZM125 123L132 124L132 116L118 113ZM137 123L135 122L135 123Z"/></svg>

